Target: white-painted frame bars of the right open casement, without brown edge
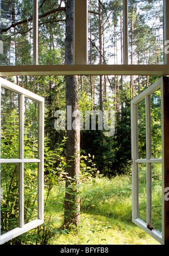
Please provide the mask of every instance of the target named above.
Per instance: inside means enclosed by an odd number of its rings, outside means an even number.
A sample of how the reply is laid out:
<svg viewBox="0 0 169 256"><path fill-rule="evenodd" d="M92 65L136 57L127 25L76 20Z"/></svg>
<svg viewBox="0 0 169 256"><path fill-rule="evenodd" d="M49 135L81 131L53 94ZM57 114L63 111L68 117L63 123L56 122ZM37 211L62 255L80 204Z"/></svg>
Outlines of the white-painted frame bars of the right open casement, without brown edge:
<svg viewBox="0 0 169 256"><path fill-rule="evenodd" d="M161 89L161 124L162 124L162 158L152 159L150 158L150 101L149 97L156 90ZM146 107L146 159L137 159L137 104L145 99ZM146 233L155 238L161 244L164 244L164 133L163 133L163 77L156 81L149 88L140 93L137 97L131 101L131 141L132 141L132 222L142 228ZM138 184L138 163L146 163L146 223L139 219L139 184ZM149 163L161 163L162 164L162 233L154 230L150 230L147 225L150 224L151 215L151 172Z"/></svg>

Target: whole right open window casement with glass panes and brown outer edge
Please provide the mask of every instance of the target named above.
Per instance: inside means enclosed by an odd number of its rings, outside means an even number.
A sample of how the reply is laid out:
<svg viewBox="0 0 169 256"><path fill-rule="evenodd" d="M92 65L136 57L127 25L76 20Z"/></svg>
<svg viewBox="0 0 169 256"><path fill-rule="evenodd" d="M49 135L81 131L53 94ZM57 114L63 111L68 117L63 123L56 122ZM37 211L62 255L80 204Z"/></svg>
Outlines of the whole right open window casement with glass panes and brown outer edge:
<svg viewBox="0 0 169 256"><path fill-rule="evenodd" d="M131 101L132 221L168 244L168 77Z"/></svg>

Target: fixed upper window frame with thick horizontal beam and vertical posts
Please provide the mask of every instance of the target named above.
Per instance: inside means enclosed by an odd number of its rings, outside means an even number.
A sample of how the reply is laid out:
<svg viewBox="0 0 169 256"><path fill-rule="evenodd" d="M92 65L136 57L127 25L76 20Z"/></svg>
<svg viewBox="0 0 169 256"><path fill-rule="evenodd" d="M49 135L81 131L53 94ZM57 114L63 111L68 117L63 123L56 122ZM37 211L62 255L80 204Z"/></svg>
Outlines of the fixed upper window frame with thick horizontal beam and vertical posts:
<svg viewBox="0 0 169 256"><path fill-rule="evenodd" d="M164 44L169 40L169 3L163 0ZM87 64L88 19L87 0L74 0L74 64L38 65L38 0L33 7L33 65L0 66L0 76L22 75L169 75L169 54L164 53L164 64L128 64L128 0L123 0L123 64ZM79 24L81 28L79 30Z"/></svg>

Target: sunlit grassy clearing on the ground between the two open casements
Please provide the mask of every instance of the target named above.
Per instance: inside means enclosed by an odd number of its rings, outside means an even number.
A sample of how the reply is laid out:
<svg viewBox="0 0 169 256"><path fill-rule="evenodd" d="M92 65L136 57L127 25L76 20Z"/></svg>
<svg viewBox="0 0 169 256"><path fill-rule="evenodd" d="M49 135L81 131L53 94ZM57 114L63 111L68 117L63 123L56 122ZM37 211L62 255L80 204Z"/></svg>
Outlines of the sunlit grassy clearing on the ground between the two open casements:
<svg viewBox="0 0 169 256"><path fill-rule="evenodd" d="M95 197L94 196L95 192ZM56 199L56 191L50 198ZM77 232L61 235L50 244L55 245L158 245L152 237L131 222L131 176L116 176L113 179L96 177L84 183L82 198L81 225ZM92 199L93 198L93 199ZM59 199L59 198L58 198ZM91 201L92 199L92 201ZM59 199L61 202L61 198ZM62 204L56 203L56 208L50 207L61 221ZM52 206L52 203L51 203ZM88 208L87 212L85 210ZM56 210L57 209L57 213Z"/></svg>

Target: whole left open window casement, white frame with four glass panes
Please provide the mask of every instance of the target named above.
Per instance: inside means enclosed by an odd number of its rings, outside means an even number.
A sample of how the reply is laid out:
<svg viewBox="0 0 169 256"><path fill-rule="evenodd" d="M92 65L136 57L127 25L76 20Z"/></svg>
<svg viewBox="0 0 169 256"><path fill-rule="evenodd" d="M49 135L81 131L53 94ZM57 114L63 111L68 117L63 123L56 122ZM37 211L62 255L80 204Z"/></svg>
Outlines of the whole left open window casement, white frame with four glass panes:
<svg viewBox="0 0 169 256"><path fill-rule="evenodd" d="M1 85L0 244L43 223L44 99Z"/></svg>

